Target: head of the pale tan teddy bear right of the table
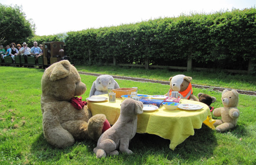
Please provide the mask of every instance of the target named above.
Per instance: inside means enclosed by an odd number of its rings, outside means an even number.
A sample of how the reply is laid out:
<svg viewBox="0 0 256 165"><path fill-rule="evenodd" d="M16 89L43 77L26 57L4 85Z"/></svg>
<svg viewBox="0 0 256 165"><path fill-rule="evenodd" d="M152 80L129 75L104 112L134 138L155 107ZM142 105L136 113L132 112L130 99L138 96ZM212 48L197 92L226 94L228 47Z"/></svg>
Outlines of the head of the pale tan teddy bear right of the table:
<svg viewBox="0 0 256 165"><path fill-rule="evenodd" d="M237 90L223 90L221 95L222 104L227 107L237 107L239 96Z"/></svg>

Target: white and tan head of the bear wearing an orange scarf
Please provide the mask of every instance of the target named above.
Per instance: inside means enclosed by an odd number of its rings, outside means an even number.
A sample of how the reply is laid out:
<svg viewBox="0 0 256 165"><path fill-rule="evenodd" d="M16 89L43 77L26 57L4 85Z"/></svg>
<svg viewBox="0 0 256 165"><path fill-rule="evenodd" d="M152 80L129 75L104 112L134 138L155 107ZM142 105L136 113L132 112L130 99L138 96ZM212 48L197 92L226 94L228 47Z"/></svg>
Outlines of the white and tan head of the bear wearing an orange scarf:
<svg viewBox="0 0 256 165"><path fill-rule="evenodd" d="M191 77L185 75L176 75L174 77L170 77L170 90L172 91L184 91L187 89L190 81L192 80Z"/></svg>

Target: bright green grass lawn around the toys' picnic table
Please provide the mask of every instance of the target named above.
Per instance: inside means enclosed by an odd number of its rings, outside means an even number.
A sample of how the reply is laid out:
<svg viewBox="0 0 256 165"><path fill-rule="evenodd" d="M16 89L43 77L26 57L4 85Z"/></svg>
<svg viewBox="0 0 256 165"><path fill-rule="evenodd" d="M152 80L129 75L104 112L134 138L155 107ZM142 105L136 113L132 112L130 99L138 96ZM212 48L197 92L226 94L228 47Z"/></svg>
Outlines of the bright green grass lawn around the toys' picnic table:
<svg viewBox="0 0 256 165"><path fill-rule="evenodd" d="M82 70L77 66L78 70ZM235 81L232 75L225 73L207 74L199 72L181 73L168 70L138 70L137 68L112 68L104 72L105 67L94 69L83 68L84 72L162 79L176 74L193 77L193 83L218 82L216 85L241 89L244 82L250 83L255 89L254 77L246 77L243 81ZM101 70L101 71L100 71ZM165 73L166 72L166 73ZM256 163L256 97L240 95L238 125L236 128L218 133L204 124L195 129L195 135L189 136L176 149L169 149L169 140L152 134L136 134L131 140L130 149L133 155L97 159L93 153L96 142L92 140L77 141L66 149L50 146L42 133L42 115L40 109L42 69L0 66L0 164L255 164ZM155 75L155 76L154 76ZM234 75L236 77L237 75ZM154 78L155 77L155 78ZM208 80L209 78L217 80ZM222 80L220 79L222 77ZM167 78L167 79L166 79ZM87 85L82 96L85 100L90 93L95 76L81 75ZM221 81L220 81L221 80ZM139 93L163 95L169 86L141 83L116 79L120 87L138 86ZM229 81L232 81L230 83ZM229 84L229 85L228 85ZM234 84L234 86L233 86ZM215 85L214 85L215 86ZM241 87L241 88L239 88ZM212 106L221 107L221 92L210 89L194 89L195 95L203 92L217 98ZM213 116L214 119L220 117Z"/></svg>

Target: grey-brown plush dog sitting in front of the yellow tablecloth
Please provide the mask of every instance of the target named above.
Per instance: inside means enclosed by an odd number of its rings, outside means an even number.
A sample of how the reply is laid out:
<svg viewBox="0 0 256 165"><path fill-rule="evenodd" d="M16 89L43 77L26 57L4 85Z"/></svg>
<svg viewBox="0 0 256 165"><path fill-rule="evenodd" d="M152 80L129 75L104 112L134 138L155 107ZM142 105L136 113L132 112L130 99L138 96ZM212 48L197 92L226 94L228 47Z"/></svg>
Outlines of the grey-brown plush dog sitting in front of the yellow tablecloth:
<svg viewBox="0 0 256 165"><path fill-rule="evenodd" d="M137 130L137 115L143 113L143 103L133 99L125 99L121 104L120 116L116 123L99 138L94 153L97 158L122 153L132 154L129 141Z"/></svg>

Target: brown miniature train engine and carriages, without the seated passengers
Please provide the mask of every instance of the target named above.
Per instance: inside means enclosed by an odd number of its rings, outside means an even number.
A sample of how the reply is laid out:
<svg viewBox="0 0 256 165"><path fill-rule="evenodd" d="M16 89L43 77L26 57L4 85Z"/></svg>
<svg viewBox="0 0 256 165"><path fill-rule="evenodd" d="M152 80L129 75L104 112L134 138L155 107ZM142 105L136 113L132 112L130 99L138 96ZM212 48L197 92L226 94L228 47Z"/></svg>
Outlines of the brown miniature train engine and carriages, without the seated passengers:
<svg viewBox="0 0 256 165"><path fill-rule="evenodd" d="M45 42L42 44L43 55L38 57L36 62L35 57L28 56L28 60L21 55L15 56L15 63L11 56L6 56L4 61L0 58L0 65L15 65L18 67L34 67L47 68L51 64L60 60L69 60L70 58L66 55L64 42Z"/></svg>

